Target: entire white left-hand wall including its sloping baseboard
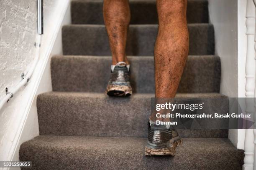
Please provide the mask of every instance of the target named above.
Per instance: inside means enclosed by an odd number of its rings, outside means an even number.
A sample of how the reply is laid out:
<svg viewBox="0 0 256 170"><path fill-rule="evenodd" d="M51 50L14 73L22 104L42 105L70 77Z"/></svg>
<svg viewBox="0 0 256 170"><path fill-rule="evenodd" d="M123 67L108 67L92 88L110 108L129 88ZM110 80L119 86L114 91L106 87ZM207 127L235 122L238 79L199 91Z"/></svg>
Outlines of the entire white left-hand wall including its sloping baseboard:
<svg viewBox="0 0 256 170"><path fill-rule="evenodd" d="M16 159L20 141L38 135L34 99L38 92L51 90L49 56L56 37L56 46L61 47L58 32L68 4L69 0L44 0L40 60L28 85L0 110L0 161ZM5 95L5 87L12 90L20 81L21 73L29 69L35 57L36 11L36 0L0 0L0 72L3 72L0 74L0 97ZM41 78L46 83L37 92ZM22 131L26 132L25 136Z"/></svg>

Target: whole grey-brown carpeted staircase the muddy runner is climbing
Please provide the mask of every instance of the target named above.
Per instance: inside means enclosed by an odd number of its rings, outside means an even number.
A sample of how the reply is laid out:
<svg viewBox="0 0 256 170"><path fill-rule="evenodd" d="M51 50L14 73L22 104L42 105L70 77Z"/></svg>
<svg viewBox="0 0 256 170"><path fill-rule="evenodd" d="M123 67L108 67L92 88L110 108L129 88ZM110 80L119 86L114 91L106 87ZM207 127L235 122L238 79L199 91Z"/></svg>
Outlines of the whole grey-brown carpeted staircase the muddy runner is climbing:
<svg viewBox="0 0 256 170"><path fill-rule="evenodd" d="M51 59L53 92L37 98L40 135L20 146L20 161L32 161L29 169L37 170L242 169L243 151L228 140L228 130L179 130L184 144L175 157L143 155L154 97L157 12L152 0L130 5L127 54L134 95L104 94L111 53L102 1L73 0L72 25L62 28L64 56ZM220 58L214 55L208 2L188 0L187 20L189 57L177 97L225 97L219 94ZM208 109L228 110L218 105Z"/></svg>

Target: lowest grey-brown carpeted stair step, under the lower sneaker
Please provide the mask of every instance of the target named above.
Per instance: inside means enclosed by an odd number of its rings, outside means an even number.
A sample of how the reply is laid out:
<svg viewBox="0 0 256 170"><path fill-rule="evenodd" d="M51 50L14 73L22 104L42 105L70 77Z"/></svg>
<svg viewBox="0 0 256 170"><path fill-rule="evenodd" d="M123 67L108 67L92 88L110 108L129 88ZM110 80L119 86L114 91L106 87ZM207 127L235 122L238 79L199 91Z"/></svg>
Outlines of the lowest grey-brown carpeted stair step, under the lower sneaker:
<svg viewBox="0 0 256 170"><path fill-rule="evenodd" d="M176 156L145 156L145 138L40 135L20 146L31 170L241 170L243 151L228 139L184 138Z"/></svg>

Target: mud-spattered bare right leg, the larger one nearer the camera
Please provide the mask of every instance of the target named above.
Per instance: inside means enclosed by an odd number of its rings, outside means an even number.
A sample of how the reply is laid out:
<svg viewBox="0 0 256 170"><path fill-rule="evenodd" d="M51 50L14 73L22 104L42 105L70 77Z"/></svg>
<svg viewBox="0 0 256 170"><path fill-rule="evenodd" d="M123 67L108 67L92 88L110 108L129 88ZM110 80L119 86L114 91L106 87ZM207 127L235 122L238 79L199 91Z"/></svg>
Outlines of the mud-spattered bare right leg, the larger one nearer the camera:
<svg viewBox="0 0 256 170"><path fill-rule="evenodd" d="M170 98L176 95L188 56L187 0L156 0L156 5L159 18L154 49L156 98Z"/></svg>

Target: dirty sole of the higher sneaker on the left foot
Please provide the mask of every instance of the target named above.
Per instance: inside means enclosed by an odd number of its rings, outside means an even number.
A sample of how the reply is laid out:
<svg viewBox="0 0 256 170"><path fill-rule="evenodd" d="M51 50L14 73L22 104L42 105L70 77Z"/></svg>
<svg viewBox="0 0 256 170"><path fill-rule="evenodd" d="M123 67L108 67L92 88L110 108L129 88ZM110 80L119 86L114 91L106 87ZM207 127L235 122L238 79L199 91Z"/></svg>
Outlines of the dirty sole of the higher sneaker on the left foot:
<svg viewBox="0 0 256 170"><path fill-rule="evenodd" d="M132 89L125 85L108 85L106 93L110 96L130 96Z"/></svg>

